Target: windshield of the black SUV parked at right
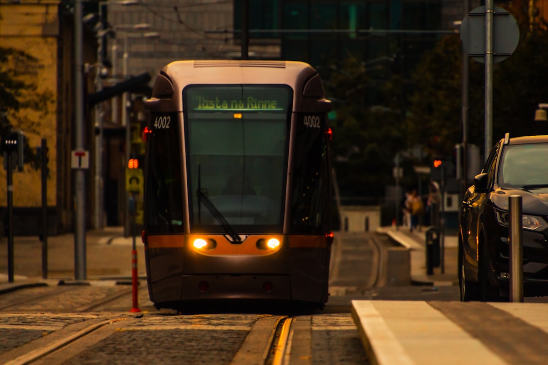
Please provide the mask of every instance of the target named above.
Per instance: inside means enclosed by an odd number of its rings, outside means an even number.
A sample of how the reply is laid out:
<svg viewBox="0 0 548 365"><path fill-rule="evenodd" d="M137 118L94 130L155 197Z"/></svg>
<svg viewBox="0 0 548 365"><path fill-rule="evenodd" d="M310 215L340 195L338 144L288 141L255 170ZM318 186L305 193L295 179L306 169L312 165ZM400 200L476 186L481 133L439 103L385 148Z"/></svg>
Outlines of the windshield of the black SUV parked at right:
<svg viewBox="0 0 548 365"><path fill-rule="evenodd" d="M500 161L498 183L507 188L548 187L548 143L506 146Z"/></svg>

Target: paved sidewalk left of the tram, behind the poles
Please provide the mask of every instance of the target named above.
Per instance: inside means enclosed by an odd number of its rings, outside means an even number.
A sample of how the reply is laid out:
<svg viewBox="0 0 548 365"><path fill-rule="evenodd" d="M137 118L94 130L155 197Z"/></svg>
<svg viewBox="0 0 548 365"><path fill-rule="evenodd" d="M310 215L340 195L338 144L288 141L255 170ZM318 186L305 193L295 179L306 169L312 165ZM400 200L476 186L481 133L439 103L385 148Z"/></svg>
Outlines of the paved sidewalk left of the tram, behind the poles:
<svg viewBox="0 0 548 365"><path fill-rule="evenodd" d="M75 236L48 237L47 279L42 278L42 242L37 236L14 237L14 283L57 283L75 279ZM0 238L0 286L8 283L8 239ZM132 275L132 237L123 227L88 230L85 235L86 279L127 280ZM135 237L139 277L145 277L145 254L141 237ZM12 283L13 284L13 283Z"/></svg>

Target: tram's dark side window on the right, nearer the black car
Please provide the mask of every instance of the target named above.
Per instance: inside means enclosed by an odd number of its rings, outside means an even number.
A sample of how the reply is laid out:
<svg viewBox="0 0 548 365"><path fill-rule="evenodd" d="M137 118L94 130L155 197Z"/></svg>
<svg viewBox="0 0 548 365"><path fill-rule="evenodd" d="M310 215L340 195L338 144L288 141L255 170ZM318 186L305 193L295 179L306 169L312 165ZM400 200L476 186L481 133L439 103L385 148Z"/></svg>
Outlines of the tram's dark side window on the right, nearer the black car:
<svg viewBox="0 0 548 365"><path fill-rule="evenodd" d="M321 123L310 123L311 117ZM291 206L291 225L295 233L318 234L328 230L329 171L325 123L326 115L298 115Z"/></svg>

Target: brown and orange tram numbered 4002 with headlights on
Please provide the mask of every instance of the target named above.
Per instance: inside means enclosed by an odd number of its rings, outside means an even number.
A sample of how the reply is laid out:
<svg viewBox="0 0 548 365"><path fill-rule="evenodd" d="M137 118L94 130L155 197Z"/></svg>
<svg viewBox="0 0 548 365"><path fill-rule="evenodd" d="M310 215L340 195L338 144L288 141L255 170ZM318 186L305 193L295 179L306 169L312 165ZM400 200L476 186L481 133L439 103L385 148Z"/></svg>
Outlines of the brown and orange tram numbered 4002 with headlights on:
<svg viewBox="0 0 548 365"><path fill-rule="evenodd" d="M155 307L251 299L323 308L332 105L316 70L175 61L145 108L142 240Z"/></svg>

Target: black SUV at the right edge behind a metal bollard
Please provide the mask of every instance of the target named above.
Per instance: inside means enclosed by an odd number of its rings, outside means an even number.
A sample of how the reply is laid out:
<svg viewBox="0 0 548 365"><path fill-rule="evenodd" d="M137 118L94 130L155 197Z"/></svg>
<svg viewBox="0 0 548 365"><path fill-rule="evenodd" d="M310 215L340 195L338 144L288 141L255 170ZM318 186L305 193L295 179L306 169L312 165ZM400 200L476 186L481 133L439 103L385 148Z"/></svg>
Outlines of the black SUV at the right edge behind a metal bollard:
<svg viewBox="0 0 548 365"><path fill-rule="evenodd" d="M510 138L491 150L460 215L462 301L509 299L509 196L522 196L523 294L548 293L548 136Z"/></svg>

